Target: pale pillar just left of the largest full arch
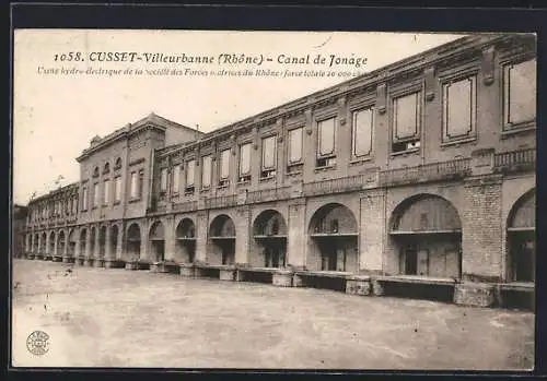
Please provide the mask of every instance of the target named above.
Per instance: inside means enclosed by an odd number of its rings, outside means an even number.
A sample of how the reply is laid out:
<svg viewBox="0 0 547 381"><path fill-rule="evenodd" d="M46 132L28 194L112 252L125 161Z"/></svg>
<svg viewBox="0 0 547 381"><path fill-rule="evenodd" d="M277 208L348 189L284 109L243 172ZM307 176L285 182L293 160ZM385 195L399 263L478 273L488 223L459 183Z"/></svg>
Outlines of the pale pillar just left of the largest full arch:
<svg viewBox="0 0 547 381"><path fill-rule="evenodd" d="M386 231L385 191L371 190L361 193L361 229L359 270L380 274L383 270Z"/></svg>

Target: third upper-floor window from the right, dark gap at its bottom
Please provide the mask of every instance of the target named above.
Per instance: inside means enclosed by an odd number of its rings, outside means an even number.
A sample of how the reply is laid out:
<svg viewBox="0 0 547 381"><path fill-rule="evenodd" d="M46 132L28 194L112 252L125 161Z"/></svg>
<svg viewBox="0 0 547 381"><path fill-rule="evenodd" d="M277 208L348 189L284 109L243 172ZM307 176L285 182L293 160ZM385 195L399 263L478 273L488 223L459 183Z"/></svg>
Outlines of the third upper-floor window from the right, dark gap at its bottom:
<svg viewBox="0 0 547 381"><path fill-rule="evenodd" d="M417 151L420 147L421 96L419 92L393 99L392 153Z"/></svg>

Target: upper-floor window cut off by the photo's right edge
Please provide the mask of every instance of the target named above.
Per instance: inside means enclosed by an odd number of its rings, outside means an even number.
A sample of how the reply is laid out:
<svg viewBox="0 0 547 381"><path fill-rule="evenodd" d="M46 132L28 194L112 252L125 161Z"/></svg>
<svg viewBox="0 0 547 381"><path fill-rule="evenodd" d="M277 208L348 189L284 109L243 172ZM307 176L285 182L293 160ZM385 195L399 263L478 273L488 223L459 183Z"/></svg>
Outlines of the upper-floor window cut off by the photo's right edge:
<svg viewBox="0 0 547 381"><path fill-rule="evenodd" d="M503 66L503 129L536 119L536 59Z"/></svg>

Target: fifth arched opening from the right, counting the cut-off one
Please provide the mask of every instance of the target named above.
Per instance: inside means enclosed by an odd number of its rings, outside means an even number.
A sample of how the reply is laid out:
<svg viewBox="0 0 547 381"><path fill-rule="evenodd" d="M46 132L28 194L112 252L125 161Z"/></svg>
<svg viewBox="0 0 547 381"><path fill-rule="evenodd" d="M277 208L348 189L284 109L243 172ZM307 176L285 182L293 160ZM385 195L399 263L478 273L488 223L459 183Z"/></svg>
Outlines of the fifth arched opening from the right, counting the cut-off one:
<svg viewBox="0 0 547 381"><path fill-rule="evenodd" d="M208 254L212 258L211 262L220 262L222 264L234 264L235 262L235 225L229 216L221 214L211 223L209 229L209 248Z"/></svg>

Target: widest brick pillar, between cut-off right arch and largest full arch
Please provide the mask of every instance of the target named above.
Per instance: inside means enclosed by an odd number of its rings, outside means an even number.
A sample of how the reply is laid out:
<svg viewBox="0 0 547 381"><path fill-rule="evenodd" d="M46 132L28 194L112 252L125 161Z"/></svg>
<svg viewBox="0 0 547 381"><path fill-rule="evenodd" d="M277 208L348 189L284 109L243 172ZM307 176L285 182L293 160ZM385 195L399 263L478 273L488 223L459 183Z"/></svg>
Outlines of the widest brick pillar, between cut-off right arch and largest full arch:
<svg viewBox="0 0 547 381"><path fill-rule="evenodd" d="M462 277L473 282L502 279L503 224L499 176L472 177L464 186Z"/></svg>

